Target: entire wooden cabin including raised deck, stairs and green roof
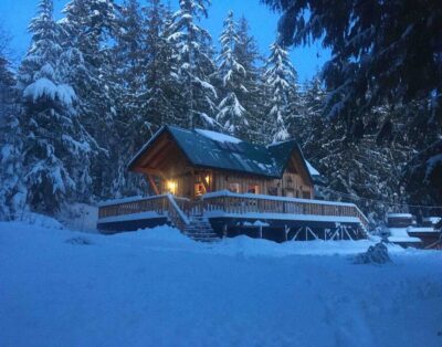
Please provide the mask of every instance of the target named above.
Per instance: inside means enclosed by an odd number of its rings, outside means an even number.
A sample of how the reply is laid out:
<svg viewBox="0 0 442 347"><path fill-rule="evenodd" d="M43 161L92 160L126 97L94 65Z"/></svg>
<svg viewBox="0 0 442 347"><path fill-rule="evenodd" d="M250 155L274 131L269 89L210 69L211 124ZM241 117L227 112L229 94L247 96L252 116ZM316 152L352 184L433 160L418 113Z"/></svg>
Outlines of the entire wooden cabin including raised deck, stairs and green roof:
<svg viewBox="0 0 442 347"><path fill-rule="evenodd" d="M165 126L128 169L145 176L150 192L102 203L103 232L168 223L197 240L248 234L278 242L367 232L368 220L355 204L314 199L318 172L295 140L262 146Z"/></svg>

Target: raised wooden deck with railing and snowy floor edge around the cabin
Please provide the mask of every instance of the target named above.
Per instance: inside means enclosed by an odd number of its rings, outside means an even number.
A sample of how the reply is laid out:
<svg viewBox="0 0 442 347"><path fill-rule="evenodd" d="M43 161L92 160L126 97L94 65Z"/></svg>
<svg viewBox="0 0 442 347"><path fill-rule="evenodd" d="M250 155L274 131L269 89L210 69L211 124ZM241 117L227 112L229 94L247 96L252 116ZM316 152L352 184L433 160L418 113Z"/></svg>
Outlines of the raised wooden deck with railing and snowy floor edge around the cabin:
<svg viewBox="0 0 442 347"><path fill-rule="evenodd" d="M230 191L208 193L197 201L162 194L105 202L98 209L98 229L106 223L124 222L128 219L156 218L167 220L183 232L192 229L192 224L201 219L303 221L306 228L318 222L328 225L349 222L358 224L364 233L369 229L369 221L354 203L240 194ZM313 227L308 228L311 231ZM213 233L213 230L210 232Z"/></svg>

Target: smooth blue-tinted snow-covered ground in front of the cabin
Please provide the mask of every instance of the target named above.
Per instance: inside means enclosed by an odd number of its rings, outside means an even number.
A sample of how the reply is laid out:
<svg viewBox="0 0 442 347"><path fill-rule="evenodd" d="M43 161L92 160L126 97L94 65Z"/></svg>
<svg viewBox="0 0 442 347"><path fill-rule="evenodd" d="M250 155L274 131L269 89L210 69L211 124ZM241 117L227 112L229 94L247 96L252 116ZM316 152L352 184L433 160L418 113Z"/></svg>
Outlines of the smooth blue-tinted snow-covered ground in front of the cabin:
<svg viewBox="0 0 442 347"><path fill-rule="evenodd" d="M442 346L442 252L0 223L0 346Z"/></svg>

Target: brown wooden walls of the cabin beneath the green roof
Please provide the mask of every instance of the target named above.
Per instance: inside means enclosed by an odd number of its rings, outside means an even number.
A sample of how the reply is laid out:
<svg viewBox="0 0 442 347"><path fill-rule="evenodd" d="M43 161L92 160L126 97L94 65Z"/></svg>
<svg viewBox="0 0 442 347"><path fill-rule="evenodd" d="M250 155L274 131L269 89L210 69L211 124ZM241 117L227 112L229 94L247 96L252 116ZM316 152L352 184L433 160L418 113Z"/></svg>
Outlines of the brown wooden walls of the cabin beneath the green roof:
<svg viewBox="0 0 442 347"><path fill-rule="evenodd" d="M134 170L146 175L151 191L157 194L171 192L178 197L198 199L211 191L246 193L256 187L255 192L261 194L313 199L314 187L302 160L294 154L281 179L192 167L170 135L165 133L144 154ZM171 185L173 189L170 189ZM236 185L238 190L232 189L232 185Z"/></svg>

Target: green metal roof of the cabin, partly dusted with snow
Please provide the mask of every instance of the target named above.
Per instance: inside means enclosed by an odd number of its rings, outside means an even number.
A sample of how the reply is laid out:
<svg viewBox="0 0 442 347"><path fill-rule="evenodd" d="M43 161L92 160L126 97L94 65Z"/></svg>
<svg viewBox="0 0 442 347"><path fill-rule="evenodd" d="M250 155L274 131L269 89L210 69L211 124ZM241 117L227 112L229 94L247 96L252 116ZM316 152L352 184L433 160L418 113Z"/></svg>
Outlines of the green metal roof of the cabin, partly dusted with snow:
<svg viewBox="0 0 442 347"><path fill-rule="evenodd" d="M261 146L219 133L165 126L129 162L129 168L164 132L172 136L193 166L281 178L294 150L298 151L305 165L305 159L295 140ZM305 170L309 176L306 166Z"/></svg>

